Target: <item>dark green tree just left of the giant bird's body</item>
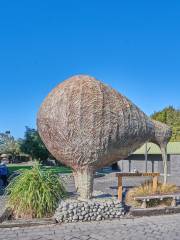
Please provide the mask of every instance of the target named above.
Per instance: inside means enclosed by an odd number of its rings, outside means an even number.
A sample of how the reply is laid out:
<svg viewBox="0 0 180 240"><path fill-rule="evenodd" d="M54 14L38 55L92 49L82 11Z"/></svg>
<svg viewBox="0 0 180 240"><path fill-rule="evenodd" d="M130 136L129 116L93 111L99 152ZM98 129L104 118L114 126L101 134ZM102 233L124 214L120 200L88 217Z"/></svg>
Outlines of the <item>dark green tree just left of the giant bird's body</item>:
<svg viewBox="0 0 180 240"><path fill-rule="evenodd" d="M30 155L32 159L40 161L51 156L34 128L26 127L24 139L20 140L20 149L23 153Z"/></svg>

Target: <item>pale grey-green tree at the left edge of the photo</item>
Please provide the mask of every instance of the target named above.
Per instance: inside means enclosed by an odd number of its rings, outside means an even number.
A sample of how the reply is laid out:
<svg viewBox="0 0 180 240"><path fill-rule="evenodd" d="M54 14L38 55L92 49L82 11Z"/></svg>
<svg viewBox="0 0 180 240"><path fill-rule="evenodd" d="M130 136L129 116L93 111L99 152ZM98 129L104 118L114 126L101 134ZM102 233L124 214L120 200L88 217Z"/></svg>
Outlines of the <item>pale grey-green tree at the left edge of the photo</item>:
<svg viewBox="0 0 180 240"><path fill-rule="evenodd" d="M0 154L9 154L12 160L20 153L20 143L15 140L10 131L0 133Z"/></svg>

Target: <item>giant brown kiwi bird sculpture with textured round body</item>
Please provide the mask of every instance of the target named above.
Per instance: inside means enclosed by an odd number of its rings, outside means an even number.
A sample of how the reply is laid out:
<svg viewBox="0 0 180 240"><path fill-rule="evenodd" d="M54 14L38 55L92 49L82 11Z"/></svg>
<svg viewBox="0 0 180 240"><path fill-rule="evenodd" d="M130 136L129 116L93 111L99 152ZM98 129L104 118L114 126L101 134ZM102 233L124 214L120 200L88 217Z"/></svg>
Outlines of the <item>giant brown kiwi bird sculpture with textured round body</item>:
<svg viewBox="0 0 180 240"><path fill-rule="evenodd" d="M95 170L125 159L146 141L161 147L166 168L170 128L93 77L59 84L44 100L37 125L52 155L73 169L81 198L92 196Z"/></svg>

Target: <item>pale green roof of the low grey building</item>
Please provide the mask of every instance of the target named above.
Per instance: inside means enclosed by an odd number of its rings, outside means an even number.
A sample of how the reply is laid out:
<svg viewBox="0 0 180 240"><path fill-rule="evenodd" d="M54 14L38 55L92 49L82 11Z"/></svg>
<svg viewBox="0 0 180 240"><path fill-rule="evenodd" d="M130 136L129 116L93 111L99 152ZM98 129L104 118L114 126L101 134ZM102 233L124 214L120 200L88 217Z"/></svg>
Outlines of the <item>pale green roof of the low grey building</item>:
<svg viewBox="0 0 180 240"><path fill-rule="evenodd" d="M160 148L154 143L147 143L148 154L161 154ZM167 145L168 154L180 154L180 142L169 142ZM145 154L145 144L133 154Z"/></svg>

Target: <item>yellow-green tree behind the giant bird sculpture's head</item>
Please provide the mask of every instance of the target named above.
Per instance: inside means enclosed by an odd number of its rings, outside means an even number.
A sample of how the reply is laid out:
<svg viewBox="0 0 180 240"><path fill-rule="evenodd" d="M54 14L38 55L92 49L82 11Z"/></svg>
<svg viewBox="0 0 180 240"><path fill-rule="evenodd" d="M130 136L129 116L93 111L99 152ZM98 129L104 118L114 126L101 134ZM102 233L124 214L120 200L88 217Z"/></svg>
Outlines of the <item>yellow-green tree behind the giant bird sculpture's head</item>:
<svg viewBox="0 0 180 240"><path fill-rule="evenodd" d="M169 106L159 112L154 112L151 118L166 123L172 128L172 137L170 141L180 141L180 109Z"/></svg>

